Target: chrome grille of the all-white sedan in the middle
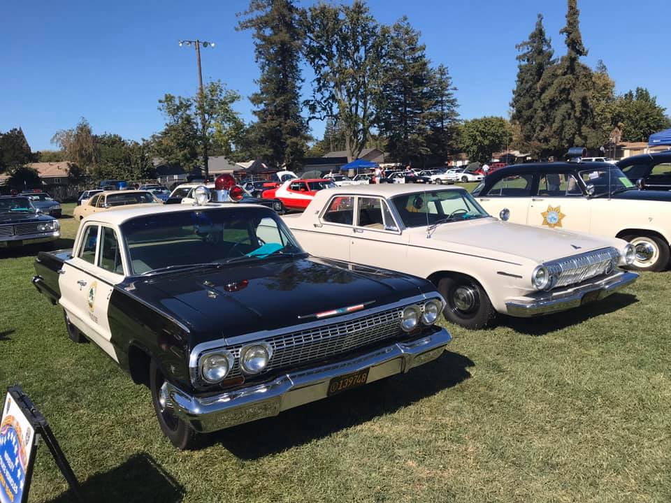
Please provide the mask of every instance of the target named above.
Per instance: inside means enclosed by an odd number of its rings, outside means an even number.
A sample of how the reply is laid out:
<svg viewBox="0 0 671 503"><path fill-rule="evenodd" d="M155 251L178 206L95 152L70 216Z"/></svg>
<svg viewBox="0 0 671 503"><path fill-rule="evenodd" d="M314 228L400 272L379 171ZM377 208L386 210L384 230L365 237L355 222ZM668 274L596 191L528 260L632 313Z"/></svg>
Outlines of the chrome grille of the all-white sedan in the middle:
<svg viewBox="0 0 671 503"><path fill-rule="evenodd" d="M558 281L554 288L584 282L595 276L608 274L617 265L619 251L610 247L588 251L584 254L561 258L550 262L547 268L551 275L557 275Z"/></svg>

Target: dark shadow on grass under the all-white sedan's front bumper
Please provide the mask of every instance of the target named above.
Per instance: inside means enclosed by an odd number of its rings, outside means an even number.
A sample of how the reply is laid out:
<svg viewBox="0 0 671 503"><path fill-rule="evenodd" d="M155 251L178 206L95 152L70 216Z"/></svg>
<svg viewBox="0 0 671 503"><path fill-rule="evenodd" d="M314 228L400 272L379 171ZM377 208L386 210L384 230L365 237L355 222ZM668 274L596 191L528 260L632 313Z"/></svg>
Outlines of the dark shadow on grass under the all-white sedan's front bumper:
<svg viewBox="0 0 671 503"><path fill-rule="evenodd" d="M638 299L631 293L614 293L612 296L598 302L568 311L548 314L547 316L537 316L535 318L500 316L499 325L507 326L527 335L545 335L571 325L577 325L590 318L617 311L628 305L635 304L635 302L638 302Z"/></svg>

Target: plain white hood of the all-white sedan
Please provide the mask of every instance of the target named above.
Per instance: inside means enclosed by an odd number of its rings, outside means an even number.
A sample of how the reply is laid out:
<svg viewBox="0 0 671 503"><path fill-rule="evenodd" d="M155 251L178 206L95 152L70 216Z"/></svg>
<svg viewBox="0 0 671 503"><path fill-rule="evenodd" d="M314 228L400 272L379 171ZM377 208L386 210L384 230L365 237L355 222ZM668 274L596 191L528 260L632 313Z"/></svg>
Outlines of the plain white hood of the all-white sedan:
<svg viewBox="0 0 671 503"><path fill-rule="evenodd" d="M616 243L614 238L511 224L493 218L441 224L430 240L426 239L426 228L422 228L421 233L413 233L411 240L411 244L418 246L440 247L513 263L520 257L542 263Z"/></svg>

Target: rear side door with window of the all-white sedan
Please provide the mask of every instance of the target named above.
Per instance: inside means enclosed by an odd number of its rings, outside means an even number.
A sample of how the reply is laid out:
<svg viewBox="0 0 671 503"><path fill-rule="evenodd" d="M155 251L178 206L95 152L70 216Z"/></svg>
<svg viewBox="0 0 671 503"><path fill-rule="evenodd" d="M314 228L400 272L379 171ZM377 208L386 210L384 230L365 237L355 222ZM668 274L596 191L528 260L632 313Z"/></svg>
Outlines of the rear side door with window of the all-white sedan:
<svg viewBox="0 0 671 503"><path fill-rule="evenodd" d="M354 196L333 196L315 224L317 238L310 239L310 253L349 261L349 240L353 229Z"/></svg>

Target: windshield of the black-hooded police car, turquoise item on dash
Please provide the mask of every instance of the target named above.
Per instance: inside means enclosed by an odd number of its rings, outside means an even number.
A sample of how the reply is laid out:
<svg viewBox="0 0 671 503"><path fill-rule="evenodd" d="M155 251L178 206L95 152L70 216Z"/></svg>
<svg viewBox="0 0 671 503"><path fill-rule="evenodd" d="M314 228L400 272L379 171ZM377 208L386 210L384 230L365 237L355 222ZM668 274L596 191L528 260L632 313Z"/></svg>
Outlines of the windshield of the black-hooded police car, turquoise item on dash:
<svg viewBox="0 0 671 503"><path fill-rule="evenodd" d="M303 254L275 213L215 208L147 214L122 225L133 274Z"/></svg>

